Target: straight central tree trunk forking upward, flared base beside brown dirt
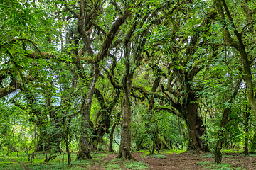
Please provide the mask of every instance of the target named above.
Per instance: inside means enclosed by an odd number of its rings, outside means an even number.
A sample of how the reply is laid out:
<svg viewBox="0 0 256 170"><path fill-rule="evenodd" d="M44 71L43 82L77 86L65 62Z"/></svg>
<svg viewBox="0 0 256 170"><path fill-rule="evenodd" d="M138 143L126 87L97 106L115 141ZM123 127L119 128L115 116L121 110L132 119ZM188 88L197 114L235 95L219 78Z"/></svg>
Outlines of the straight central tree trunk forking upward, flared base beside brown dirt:
<svg viewBox="0 0 256 170"><path fill-rule="evenodd" d="M124 96L122 100L122 124L121 124L121 144L119 147L119 154L117 158L122 159L134 159L132 154L130 153L131 146L131 135L129 132L129 123L131 122L132 111L131 111L131 89L132 89L132 80L134 77L134 72L139 67L142 62L142 53L144 52L144 45L146 44L146 35L149 33L149 29L146 29L143 35L140 35L144 38L136 43L133 51L133 59L130 60L130 52L132 43L129 42L134 35L134 30L137 26L137 21L139 19L134 20L134 24L128 31L125 39L124 39L124 66L125 72L122 79L122 88L124 89ZM146 20L144 20L146 21ZM136 33L137 34L137 33ZM137 36L139 36L137 34ZM134 159L135 160L135 159Z"/></svg>

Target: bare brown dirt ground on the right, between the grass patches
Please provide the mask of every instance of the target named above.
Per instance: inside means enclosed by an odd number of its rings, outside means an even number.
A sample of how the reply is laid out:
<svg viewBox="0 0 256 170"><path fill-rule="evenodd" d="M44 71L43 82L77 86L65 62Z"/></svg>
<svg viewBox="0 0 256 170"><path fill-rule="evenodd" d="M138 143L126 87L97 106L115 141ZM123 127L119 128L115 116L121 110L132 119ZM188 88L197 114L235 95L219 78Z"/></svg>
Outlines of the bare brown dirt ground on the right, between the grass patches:
<svg viewBox="0 0 256 170"><path fill-rule="evenodd" d="M165 154L165 157L142 157L142 154L143 152L134 152L132 153L132 156L137 159L137 161L146 163L149 169L205 170L212 168L207 168L206 165L198 164L199 162L214 162L213 157L206 157L206 154L183 152L181 154ZM109 154L105 158L105 161L110 162L116 157L117 154ZM223 163L230 164L231 166L229 167L232 169L236 169L238 167L247 170L256 169L256 157L245 157L241 154L223 154Z"/></svg>

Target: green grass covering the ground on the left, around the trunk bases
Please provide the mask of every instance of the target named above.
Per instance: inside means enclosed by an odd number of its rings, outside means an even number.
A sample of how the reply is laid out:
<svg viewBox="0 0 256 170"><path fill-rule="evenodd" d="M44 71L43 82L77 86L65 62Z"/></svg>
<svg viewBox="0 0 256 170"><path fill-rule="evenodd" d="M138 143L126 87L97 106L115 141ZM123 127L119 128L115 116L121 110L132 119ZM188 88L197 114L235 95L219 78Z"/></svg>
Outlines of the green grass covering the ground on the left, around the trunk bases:
<svg viewBox="0 0 256 170"><path fill-rule="evenodd" d="M100 152L97 154L92 154L92 159L89 160L75 160L77 155L71 154L71 167L67 164L68 155L67 154L55 154L57 157L50 162L44 162L46 155L43 153L37 153L33 162L28 162L28 157L20 155L10 155L9 157L0 157L0 170L24 170L26 166L30 170L82 170L82 169L94 169L95 167L100 167L100 169L148 169L147 165L142 162L134 161L123 161L121 159L114 159L112 162L105 162L108 152ZM163 157L160 155L156 157ZM164 156L165 157L165 156ZM63 162L64 161L64 162Z"/></svg>

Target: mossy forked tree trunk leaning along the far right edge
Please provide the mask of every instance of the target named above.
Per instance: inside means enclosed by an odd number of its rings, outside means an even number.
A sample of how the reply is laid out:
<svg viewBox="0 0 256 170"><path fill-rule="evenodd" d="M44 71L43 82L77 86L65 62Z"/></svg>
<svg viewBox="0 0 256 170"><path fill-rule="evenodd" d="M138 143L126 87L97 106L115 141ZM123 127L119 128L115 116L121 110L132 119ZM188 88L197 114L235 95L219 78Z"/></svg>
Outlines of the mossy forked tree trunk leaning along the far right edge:
<svg viewBox="0 0 256 170"><path fill-rule="evenodd" d="M253 26L255 25L255 21L252 20L252 11L248 7L247 3L248 1L239 3L240 7L244 10L244 13L242 13L242 17L246 18L247 23L240 23L239 21L237 21L238 18L235 18L235 20L233 19L232 13L230 13L230 10L225 0L215 1L215 6L218 9L220 19L222 20L222 33L225 44L233 47L240 53L239 58L243 67L242 72L244 73L244 79L247 84L247 96L250 102L250 106L252 108L252 113L256 118L256 103L254 97L255 94L253 89L251 69L254 58L252 57L252 55L250 55L250 52L247 52L250 51L250 49L252 49L253 47L253 45L250 45L250 42L254 40L248 38L248 35L255 35L255 30L253 28ZM225 20L226 17L228 18L228 22ZM233 35L230 33L231 30L233 31Z"/></svg>

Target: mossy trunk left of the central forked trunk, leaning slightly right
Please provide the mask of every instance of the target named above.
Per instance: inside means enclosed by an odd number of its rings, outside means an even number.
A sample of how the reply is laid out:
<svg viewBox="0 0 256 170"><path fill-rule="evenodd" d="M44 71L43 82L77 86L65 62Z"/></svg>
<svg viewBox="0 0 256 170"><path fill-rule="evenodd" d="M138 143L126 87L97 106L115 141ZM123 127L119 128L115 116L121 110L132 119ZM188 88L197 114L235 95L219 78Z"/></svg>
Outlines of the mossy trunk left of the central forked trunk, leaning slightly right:
<svg viewBox="0 0 256 170"><path fill-rule="evenodd" d="M87 93L82 97L82 106L81 106L81 129L80 129L80 145L77 159L91 159L90 155L90 110L92 106L92 97L95 91L95 84L99 77L99 64L94 64L93 75L90 83L88 85Z"/></svg>

